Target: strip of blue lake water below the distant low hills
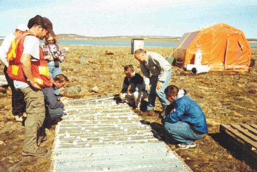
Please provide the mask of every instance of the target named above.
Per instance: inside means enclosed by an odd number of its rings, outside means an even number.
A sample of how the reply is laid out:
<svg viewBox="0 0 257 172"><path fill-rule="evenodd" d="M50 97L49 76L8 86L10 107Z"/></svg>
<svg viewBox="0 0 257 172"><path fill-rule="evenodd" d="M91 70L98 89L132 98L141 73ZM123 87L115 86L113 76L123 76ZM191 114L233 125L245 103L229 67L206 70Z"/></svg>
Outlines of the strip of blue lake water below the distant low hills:
<svg viewBox="0 0 257 172"><path fill-rule="evenodd" d="M0 39L3 41L3 39ZM40 42L44 42L40 40ZM60 40L60 45L88 45L88 46L131 46L131 42L109 42L109 41L78 41ZM176 47L177 42L144 42L144 47ZM257 49L257 44L250 45L252 49Z"/></svg>

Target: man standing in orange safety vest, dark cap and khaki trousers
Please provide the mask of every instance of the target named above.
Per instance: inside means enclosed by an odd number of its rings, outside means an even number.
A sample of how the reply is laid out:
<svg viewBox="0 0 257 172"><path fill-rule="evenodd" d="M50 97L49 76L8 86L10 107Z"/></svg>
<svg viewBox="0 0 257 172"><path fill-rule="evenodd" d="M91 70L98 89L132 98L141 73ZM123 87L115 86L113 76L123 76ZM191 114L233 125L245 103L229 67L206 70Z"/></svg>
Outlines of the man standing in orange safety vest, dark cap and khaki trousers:
<svg viewBox="0 0 257 172"><path fill-rule="evenodd" d="M26 102L27 119L22 155L40 156L48 151L37 146L46 140L44 127L41 127L46 113L41 88L51 87L52 81L38 39L44 39L49 33L55 34L51 21L40 15L29 20L28 28L28 32L18 35L11 43L7 55L7 73L14 80L14 87L23 93Z"/></svg>

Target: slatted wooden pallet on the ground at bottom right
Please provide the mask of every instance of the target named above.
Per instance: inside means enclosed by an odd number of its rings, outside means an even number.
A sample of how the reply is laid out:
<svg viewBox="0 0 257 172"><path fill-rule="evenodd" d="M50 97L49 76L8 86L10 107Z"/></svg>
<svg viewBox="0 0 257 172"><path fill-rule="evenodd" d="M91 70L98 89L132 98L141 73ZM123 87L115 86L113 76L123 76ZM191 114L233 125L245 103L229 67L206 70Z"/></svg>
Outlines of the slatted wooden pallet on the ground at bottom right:
<svg viewBox="0 0 257 172"><path fill-rule="evenodd" d="M221 124L220 132L227 134L242 143L247 149L257 153L256 124Z"/></svg>

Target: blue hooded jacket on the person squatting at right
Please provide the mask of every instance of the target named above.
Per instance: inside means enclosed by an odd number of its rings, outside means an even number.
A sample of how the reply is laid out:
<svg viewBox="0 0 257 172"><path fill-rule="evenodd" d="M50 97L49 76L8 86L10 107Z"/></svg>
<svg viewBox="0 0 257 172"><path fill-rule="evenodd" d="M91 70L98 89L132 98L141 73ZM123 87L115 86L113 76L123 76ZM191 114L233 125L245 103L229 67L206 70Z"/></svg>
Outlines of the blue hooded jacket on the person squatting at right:
<svg viewBox="0 0 257 172"><path fill-rule="evenodd" d="M194 130L207 133L206 118L201 107L184 93L177 95L175 101L167 106L164 120L170 123L186 122ZM174 112L170 113L172 110Z"/></svg>

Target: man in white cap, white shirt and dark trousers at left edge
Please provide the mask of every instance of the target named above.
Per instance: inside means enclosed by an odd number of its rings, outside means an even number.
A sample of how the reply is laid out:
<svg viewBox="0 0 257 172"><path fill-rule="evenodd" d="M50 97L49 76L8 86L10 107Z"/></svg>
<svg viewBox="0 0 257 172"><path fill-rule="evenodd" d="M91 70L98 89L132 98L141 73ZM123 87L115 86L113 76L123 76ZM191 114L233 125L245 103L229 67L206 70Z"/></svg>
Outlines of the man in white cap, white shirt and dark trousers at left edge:
<svg viewBox="0 0 257 172"><path fill-rule="evenodd" d="M25 112L26 105L25 105L23 94L14 88L13 80L7 74L7 68L9 64L6 57L7 57L7 53L9 51L12 40L19 34L26 32L27 30L29 30L29 28L26 25L24 24L18 25L15 29L15 32L6 36L2 45L0 46L0 60L5 65L4 74L12 91L12 114L14 115L15 117L14 119L17 122L23 122L23 120L25 119L25 117L23 117L23 113Z"/></svg>

